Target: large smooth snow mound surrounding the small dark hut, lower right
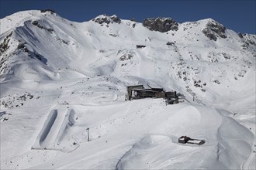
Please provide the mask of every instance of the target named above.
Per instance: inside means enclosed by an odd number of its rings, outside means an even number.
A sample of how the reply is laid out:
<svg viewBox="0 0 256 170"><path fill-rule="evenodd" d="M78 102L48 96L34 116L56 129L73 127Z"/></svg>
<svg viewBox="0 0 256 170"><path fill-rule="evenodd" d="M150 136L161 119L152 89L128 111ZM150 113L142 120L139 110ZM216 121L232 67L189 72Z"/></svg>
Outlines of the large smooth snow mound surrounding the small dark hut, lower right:
<svg viewBox="0 0 256 170"><path fill-rule="evenodd" d="M214 109L198 109L185 107L170 113L168 121L161 122L154 134L145 135L126 151L116 169L240 168L244 162L239 160L251 155L251 132ZM206 144L179 144L182 135L204 138Z"/></svg>

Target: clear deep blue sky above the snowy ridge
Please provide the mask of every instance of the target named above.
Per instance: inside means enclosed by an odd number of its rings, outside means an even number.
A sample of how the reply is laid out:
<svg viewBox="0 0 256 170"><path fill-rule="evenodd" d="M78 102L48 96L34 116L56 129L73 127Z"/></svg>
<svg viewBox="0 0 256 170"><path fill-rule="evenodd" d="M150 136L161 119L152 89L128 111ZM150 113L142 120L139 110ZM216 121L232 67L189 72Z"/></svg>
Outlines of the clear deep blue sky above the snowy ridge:
<svg viewBox="0 0 256 170"><path fill-rule="evenodd" d="M85 22L97 15L121 19L171 17L177 22L212 18L236 32L255 34L256 0L0 0L1 18L30 9L54 9L62 17Z"/></svg>

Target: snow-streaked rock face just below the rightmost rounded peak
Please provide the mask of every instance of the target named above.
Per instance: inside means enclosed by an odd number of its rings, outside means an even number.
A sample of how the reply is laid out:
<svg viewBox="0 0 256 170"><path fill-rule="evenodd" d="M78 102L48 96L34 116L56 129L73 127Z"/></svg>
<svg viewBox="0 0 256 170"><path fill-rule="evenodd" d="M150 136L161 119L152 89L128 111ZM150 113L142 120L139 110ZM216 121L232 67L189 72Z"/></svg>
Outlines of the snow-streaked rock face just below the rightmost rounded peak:
<svg viewBox="0 0 256 170"><path fill-rule="evenodd" d="M202 29L202 33L204 33L205 36L207 36L210 40L217 40L217 37L221 37L223 39L226 39L226 28L220 24L219 22L216 22L214 20L210 20L206 24L206 28Z"/></svg>

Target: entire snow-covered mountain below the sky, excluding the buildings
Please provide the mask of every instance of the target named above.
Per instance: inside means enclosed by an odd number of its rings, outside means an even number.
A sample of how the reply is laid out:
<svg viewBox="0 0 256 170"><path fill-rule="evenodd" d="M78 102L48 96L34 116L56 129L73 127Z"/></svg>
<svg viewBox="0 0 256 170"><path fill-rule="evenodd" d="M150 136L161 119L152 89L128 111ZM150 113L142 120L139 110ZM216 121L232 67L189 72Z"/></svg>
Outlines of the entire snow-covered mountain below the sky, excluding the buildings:
<svg viewBox="0 0 256 170"><path fill-rule="evenodd" d="M1 168L255 168L255 35L51 10L0 23ZM185 98L125 101L137 84Z"/></svg>

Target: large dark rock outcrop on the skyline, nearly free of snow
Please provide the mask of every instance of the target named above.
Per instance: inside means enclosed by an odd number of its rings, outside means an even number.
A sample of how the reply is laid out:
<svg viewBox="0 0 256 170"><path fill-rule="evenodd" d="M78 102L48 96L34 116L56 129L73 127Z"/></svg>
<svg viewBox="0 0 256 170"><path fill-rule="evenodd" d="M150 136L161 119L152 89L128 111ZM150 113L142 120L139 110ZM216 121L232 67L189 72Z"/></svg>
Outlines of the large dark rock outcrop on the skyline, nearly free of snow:
<svg viewBox="0 0 256 170"><path fill-rule="evenodd" d="M161 18L157 17L156 19L144 19L143 26L147 27L150 30L158 32L168 32L170 30L178 30L178 22L171 18Z"/></svg>

